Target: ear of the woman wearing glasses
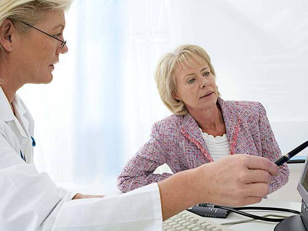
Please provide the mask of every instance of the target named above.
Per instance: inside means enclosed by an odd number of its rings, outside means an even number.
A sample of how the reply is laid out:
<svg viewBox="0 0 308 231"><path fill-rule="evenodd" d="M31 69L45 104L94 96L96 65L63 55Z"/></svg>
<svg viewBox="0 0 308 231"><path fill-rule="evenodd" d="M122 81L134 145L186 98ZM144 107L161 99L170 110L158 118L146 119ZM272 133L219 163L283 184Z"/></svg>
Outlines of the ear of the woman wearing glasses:
<svg viewBox="0 0 308 231"><path fill-rule="evenodd" d="M11 20L4 20L0 26L0 45L5 51L12 51L15 39L15 27Z"/></svg>

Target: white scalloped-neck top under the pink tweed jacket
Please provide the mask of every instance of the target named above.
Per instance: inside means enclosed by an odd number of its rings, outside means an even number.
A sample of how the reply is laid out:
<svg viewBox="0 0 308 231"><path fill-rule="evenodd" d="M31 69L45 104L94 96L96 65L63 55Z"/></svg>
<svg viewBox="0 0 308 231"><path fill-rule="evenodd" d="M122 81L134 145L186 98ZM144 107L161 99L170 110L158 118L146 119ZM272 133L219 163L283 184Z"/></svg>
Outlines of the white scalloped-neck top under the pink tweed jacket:
<svg viewBox="0 0 308 231"><path fill-rule="evenodd" d="M214 137L206 132L202 132L200 128L202 137L207 145L210 156L214 161L219 160L222 157L227 157L230 155L230 145L228 142L227 134L223 136Z"/></svg>

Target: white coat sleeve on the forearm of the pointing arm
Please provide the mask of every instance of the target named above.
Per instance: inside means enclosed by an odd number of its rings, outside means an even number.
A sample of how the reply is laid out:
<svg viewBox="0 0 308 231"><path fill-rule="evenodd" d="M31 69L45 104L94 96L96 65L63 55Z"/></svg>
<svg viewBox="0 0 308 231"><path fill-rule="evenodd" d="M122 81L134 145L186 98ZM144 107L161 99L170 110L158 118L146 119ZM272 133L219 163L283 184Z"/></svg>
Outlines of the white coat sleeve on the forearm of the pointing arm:
<svg viewBox="0 0 308 231"><path fill-rule="evenodd" d="M158 184L153 183L121 195L66 202L52 230L162 230Z"/></svg>

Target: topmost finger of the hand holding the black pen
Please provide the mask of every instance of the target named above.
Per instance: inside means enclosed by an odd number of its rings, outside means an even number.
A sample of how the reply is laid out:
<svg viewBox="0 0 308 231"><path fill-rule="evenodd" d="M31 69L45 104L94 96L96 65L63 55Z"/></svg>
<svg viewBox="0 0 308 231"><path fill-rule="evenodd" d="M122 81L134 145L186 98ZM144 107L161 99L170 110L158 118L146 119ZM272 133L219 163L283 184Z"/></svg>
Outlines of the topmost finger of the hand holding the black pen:
<svg viewBox="0 0 308 231"><path fill-rule="evenodd" d="M278 176L278 166L263 157L249 156L247 167L249 169L263 169L268 171L272 176Z"/></svg>

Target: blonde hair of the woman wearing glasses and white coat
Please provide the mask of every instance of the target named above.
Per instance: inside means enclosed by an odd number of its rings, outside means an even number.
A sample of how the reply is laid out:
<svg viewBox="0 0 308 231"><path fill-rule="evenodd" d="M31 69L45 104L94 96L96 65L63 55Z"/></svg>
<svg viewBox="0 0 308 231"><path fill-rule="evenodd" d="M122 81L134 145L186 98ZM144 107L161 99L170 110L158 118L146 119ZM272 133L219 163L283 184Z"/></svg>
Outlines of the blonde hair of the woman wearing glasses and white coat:
<svg viewBox="0 0 308 231"><path fill-rule="evenodd" d="M34 25L42 19L43 10L67 11L71 3L72 0L1 0L0 26L9 19L18 31L26 33L30 27L21 22ZM0 50L3 51L1 44Z"/></svg>

